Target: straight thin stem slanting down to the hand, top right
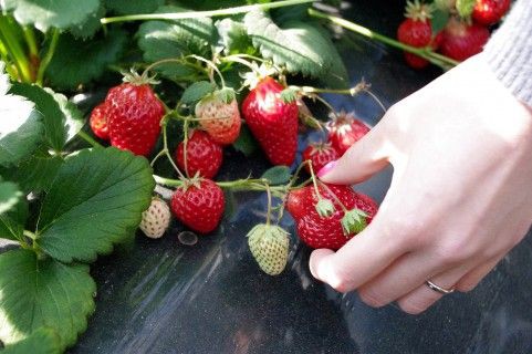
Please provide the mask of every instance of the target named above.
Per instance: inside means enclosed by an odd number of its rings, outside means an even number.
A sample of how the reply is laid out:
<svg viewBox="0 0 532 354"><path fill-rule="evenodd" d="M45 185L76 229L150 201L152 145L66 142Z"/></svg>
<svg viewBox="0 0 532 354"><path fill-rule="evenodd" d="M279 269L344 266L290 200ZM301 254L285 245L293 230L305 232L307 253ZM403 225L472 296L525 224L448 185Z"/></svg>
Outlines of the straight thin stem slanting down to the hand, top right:
<svg viewBox="0 0 532 354"><path fill-rule="evenodd" d="M362 27L357 23L344 20L344 19L335 17L335 15L331 15L328 13L317 11L315 9L309 9L309 14L313 18L328 20L328 21L333 22L334 24L337 24L337 25L340 25L344 29L347 29L347 30L353 31L355 33L362 34L362 35L367 37L369 39L379 41L382 43L388 44L390 46L404 50L405 52L409 52L409 53L419 55L419 56L428 60L432 64L436 64L436 65L438 65L440 67L444 67L444 69L448 69L448 66L455 66L455 65L459 64L459 62L453 60L453 59L450 59L448 56L435 53L430 48L415 48L415 46L411 46L411 45L407 45L405 43L401 43L399 41L390 39L389 37L386 37L386 35L383 35L380 33L377 33L375 31L372 31L372 30L369 30L365 27Z"/></svg>

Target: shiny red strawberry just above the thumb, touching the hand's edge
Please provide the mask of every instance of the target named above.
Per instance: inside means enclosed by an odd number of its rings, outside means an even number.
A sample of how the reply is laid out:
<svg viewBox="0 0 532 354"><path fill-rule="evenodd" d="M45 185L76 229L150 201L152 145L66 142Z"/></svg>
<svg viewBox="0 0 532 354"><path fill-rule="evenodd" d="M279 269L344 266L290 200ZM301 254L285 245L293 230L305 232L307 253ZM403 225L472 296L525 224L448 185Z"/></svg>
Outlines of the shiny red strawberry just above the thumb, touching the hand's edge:
<svg viewBox="0 0 532 354"><path fill-rule="evenodd" d="M344 155L347 149L358 142L369 132L369 127L362 121L355 118L353 113L344 111L337 114L337 118L333 118L327 124L328 140L340 156Z"/></svg>

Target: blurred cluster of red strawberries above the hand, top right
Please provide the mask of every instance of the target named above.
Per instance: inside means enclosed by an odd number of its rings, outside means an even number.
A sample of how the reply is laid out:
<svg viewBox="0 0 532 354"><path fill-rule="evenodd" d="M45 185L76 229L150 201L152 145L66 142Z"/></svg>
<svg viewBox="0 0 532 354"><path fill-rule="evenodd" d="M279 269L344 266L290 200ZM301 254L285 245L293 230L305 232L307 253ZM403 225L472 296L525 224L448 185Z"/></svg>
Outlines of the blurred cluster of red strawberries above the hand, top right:
<svg viewBox="0 0 532 354"><path fill-rule="evenodd" d="M408 1L406 19L397 29L399 42L415 48L430 48L457 61L463 61L482 51L490 38L489 28L498 23L510 8L510 0L476 0L467 13L459 15L457 1L436 0L434 3ZM462 1L466 2L466 1ZM432 31L431 17L435 8L449 15L444 30ZM428 61L405 52L406 62L415 69L423 69Z"/></svg>

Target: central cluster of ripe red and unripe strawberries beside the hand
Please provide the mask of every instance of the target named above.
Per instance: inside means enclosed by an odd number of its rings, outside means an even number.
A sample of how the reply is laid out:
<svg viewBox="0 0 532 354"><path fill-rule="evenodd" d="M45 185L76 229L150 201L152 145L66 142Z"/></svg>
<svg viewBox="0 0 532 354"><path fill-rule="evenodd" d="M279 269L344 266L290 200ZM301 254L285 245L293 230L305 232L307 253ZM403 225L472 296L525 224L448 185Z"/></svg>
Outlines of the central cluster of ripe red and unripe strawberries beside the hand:
<svg viewBox="0 0 532 354"><path fill-rule="evenodd" d="M90 124L94 134L111 145L147 156L160 135L165 106L148 79L131 75L126 80L108 91L105 101L93 110ZM271 76L261 79L243 100L241 112L270 163L291 166L298 150L299 106L296 98L283 95L284 90ZM221 92L216 91L196 104L192 122L198 127L187 132L174 154L179 173L185 171L187 177L181 174L171 196L171 212L199 233L215 230L223 216L223 191L212 178L222 164L222 147L232 144L241 128L234 95L228 97ZM303 153L312 175L369 132L363 122L343 112L326 124L326 129L327 140L310 144ZM325 185L315 178L313 186L288 189L284 198L296 221L298 235L310 247L337 249L376 214L377 206L371 198L347 186ZM154 198L144 212L140 229L148 237L163 236L170 221L170 208ZM277 274L284 269L286 235L269 221L250 231L250 249L267 273Z"/></svg>

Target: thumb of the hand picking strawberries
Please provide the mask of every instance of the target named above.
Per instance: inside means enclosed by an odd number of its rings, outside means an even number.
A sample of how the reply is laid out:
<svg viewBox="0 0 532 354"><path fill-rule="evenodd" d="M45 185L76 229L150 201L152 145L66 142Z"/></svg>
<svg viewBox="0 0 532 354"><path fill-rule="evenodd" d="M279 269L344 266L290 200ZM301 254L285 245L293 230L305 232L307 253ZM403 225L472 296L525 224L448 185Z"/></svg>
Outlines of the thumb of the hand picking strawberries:
<svg viewBox="0 0 532 354"><path fill-rule="evenodd" d="M366 180L388 165L383 137L379 126L375 126L350 147L344 156L320 169L317 177L335 185L354 185Z"/></svg>

